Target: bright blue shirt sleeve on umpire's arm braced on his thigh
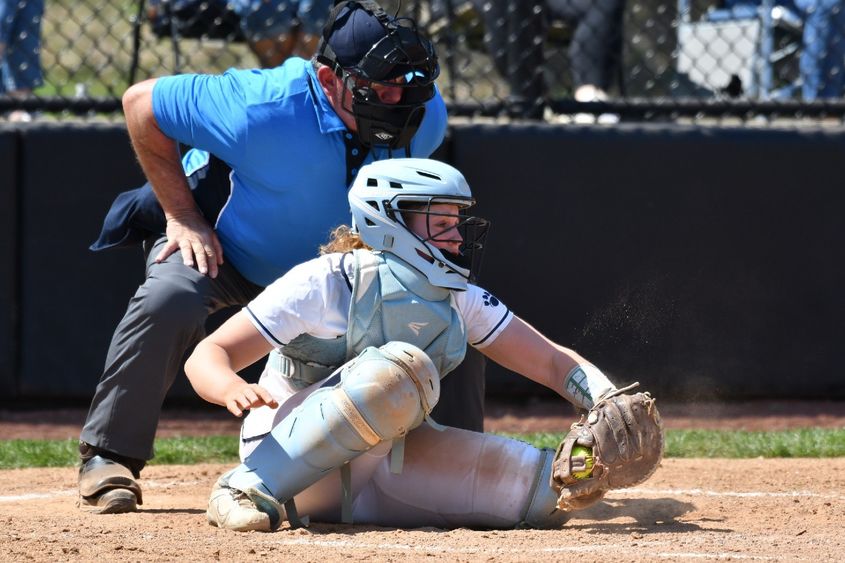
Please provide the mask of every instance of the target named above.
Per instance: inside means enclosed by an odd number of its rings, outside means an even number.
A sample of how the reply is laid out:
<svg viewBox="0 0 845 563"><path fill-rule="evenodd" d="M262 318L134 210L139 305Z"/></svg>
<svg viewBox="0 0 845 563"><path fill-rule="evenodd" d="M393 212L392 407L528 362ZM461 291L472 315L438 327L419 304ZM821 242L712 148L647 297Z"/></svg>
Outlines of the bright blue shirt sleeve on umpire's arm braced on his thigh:
<svg viewBox="0 0 845 563"><path fill-rule="evenodd" d="M247 104L236 71L159 78L153 113L168 137L234 164L246 145Z"/></svg>

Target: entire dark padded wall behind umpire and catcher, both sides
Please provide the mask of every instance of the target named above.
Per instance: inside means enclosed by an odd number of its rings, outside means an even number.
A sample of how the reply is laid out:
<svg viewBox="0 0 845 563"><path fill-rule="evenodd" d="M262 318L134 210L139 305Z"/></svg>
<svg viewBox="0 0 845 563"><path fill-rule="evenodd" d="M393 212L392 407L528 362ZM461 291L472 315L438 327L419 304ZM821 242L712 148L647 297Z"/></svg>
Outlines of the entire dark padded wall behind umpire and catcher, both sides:
<svg viewBox="0 0 845 563"><path fill-rule="evenodd" d="M7 133L0 392L87 400L143 276L140 250L87 247L142 174L123 126L22 127L19 145ZM845 132L468 125L438 157L494 222L482 285L617 382L665 397L842 399L843 154ZM489 372L491 393L540 391ZM171 396L199 401L184 380Z"/></svg>

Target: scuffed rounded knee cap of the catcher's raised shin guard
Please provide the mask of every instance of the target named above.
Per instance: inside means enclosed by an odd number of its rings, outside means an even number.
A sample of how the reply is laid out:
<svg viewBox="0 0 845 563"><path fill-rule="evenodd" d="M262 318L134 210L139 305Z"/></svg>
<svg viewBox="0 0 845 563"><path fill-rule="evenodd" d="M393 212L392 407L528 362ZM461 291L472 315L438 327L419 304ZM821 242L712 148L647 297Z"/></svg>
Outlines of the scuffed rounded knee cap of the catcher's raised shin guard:
<svg viewBox="0 0 845 563"><path fill-rule="evenodd" d="M440 398L440 375L416 346L388 342L352 360L332 392L338 410L355 430L372 430L375 435L367 441L381 442L404 436L431 413ZM364 424L357 423L358 416Z"/></svg>

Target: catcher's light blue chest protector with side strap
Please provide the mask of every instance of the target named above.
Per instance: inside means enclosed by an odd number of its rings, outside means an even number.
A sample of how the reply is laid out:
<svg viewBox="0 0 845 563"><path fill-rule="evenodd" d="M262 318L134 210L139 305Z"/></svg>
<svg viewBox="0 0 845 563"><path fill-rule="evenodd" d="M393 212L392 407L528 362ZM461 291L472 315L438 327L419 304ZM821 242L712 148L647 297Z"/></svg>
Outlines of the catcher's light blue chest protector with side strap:
<svg viewBox="0 0 845 563"><path fill-rule="evenodd" d="M369 346L400 341L425 351L441 379L455 369L466 353L466 329L452 292L392 254L356 250L353 258L346 335L301 334L270 354L271 368L304 388Z"/></svg>

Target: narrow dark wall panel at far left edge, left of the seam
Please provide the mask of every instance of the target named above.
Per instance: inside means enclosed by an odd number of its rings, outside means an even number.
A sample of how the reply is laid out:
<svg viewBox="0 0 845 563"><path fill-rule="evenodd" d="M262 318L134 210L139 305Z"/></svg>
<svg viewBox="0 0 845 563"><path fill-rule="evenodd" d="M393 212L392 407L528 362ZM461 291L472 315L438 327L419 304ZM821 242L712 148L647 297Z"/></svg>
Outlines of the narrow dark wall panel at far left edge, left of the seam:
<svg viewBox="0 0 845 563"><path fill-rule="evenodd" d="M0 128L0 396L6 399L17 395L17 159L17 131Z"/></svg>

